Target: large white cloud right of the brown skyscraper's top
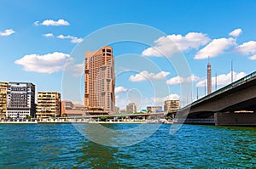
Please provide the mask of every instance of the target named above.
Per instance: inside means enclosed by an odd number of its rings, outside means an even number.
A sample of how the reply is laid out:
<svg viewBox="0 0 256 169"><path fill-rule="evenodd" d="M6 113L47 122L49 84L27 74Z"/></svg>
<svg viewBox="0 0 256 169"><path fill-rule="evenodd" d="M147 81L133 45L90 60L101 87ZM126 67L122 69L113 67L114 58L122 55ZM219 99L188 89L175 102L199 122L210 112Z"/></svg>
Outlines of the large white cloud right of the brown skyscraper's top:
<svg viewBox="0 0 256 169"><path fill-rule="evenodd" d="M154 41L155 46L143 51L144 56L171 56L177 52L183 52L190 48L199 48L206 45L210 38L206 34L189 32L186 36L168 35Z"/></svg>

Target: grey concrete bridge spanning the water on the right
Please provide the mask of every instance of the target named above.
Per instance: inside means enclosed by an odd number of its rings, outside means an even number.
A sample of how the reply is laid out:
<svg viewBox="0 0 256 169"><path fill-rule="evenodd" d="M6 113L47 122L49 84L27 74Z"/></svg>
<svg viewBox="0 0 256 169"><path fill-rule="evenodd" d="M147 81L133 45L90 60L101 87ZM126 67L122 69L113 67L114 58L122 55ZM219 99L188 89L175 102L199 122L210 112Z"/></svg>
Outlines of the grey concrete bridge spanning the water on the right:
<svg viewBox="0 0 256 169"><path fill-rule="evenodd" d="M256 126L256 71L177 110L176 119Z"/></svg>

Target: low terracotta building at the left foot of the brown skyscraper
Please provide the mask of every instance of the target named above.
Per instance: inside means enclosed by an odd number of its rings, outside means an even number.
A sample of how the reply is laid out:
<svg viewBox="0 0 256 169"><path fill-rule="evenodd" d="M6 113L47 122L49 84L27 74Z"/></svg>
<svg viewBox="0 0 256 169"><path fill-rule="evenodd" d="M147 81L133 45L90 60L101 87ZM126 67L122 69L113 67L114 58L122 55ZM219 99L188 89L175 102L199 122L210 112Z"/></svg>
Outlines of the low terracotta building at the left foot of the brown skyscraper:
<svg viewBox="0 0 256 169"><path fill-rule="evenodd" d="M61 101L61 116L84 116L86 115L86 108L84 105L73 104L72 101Z"/></svg>

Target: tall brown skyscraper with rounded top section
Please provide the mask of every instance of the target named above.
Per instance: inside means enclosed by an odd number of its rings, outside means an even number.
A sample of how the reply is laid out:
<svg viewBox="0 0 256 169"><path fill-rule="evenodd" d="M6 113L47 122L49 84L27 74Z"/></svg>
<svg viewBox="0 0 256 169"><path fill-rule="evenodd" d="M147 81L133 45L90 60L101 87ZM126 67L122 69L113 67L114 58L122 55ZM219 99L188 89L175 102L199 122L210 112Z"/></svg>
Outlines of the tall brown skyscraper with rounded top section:
<svg viewBox="0 0 256 169"><path fill-rule="evenodd" d="M114 58L111 47L85 52L84 106L89 110L104 110L113 114Z"/></svg>

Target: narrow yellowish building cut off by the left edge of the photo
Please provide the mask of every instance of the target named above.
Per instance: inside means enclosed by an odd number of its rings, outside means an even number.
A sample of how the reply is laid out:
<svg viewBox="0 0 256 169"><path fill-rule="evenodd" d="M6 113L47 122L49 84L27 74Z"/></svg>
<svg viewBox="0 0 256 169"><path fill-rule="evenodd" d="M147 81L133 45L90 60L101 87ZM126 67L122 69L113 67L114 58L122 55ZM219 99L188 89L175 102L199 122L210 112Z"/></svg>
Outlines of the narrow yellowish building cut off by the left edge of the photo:
<svg viewBox="0 0 256 169"><path fill-rule="evenodd" d="M0 82L0 119L6 118L8 86L8 82Z"/></svg>

